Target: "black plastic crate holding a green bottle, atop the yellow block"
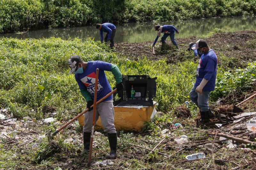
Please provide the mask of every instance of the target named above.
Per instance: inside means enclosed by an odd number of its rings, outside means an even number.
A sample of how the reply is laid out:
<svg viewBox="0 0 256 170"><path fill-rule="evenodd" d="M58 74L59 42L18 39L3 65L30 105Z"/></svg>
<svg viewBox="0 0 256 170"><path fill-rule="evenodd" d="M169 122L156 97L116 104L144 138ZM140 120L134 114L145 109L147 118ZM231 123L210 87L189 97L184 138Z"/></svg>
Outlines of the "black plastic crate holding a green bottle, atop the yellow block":
<svg viewBox="0 0 256 170"><path fill-rule="evenodd" d="M150 78L148 75L123 75L122 82L124 89L114 93L114 105L144 105L153 106L152 98L156 97L156 77ZM140 96L131 98L131 88L135 92L140 92ZM118 94L119 100L115 100Z"/></svg>

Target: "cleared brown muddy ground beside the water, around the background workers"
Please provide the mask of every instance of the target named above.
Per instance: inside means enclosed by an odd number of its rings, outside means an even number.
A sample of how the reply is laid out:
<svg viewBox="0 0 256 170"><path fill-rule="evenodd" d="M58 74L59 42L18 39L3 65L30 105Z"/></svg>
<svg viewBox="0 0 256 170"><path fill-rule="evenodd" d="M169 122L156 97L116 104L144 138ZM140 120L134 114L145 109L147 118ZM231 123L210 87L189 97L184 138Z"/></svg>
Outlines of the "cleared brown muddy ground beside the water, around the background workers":
<svg viewBox="0 0 256 170"><path fill-rule="evenodd" d="M177 35L176 35L177 37ZM217 33L209 37L188 37L177 38L176 41L180 47L178 51L167 38L167 47L162 48L162 43L157 41L155 47L155 55L153 55L152 41L140 43L116 43L116 52L119 52L129 59L137 59L143 56L152 60L167 58L170 63L176 60L183 60L184 56L191 55L193 59L193 52L188 53L188 43L196 42L199 39L207 41L210 48L212 48L221 64L223 55L228 57L230 61L227 64L229 67L244 67L248 62L256 60L256 32L255 31L241 31L231 33Z"/></svg>

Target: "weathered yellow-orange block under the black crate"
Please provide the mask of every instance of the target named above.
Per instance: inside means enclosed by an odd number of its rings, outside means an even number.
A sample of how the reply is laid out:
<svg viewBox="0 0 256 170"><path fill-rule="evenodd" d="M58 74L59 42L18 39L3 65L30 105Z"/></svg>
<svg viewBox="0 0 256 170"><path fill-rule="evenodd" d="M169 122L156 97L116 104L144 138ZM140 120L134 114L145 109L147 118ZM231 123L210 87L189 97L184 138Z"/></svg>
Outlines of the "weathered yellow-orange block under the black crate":
<svg viewBox="0 0 256 170"><path fill-rule="evenodd" d="M114 111L116 130L141 131L144 122L156 115L156 102L154 106L114 106ZM78 122L84 126L84 115L78 118ZM94 128L103 130L100 118Z"/></svg>

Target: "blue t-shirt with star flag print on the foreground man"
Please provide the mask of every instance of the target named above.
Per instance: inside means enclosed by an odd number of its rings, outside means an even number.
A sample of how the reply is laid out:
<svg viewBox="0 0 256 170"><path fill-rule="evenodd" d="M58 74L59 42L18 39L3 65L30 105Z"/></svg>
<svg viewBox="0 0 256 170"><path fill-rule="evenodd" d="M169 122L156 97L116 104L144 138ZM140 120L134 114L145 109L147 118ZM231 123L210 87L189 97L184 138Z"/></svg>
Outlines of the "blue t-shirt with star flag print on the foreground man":
<svg viewBox="0 0 256 170"><path fill-rule="evenodd" d="M87 89L94 99L94 88L95 88L95 78L96 78L96 69L99 69L99 78L98 78L98 92L97 92L97 101L110 93L111 87L108 83L108 79L104 71L110 71L111 63L103 61L90 61L87 63L87 67L82 74L75 74L76 82L79 86L79 89ZM112 100L113 95L110 95L107 100Z"/></svg>

